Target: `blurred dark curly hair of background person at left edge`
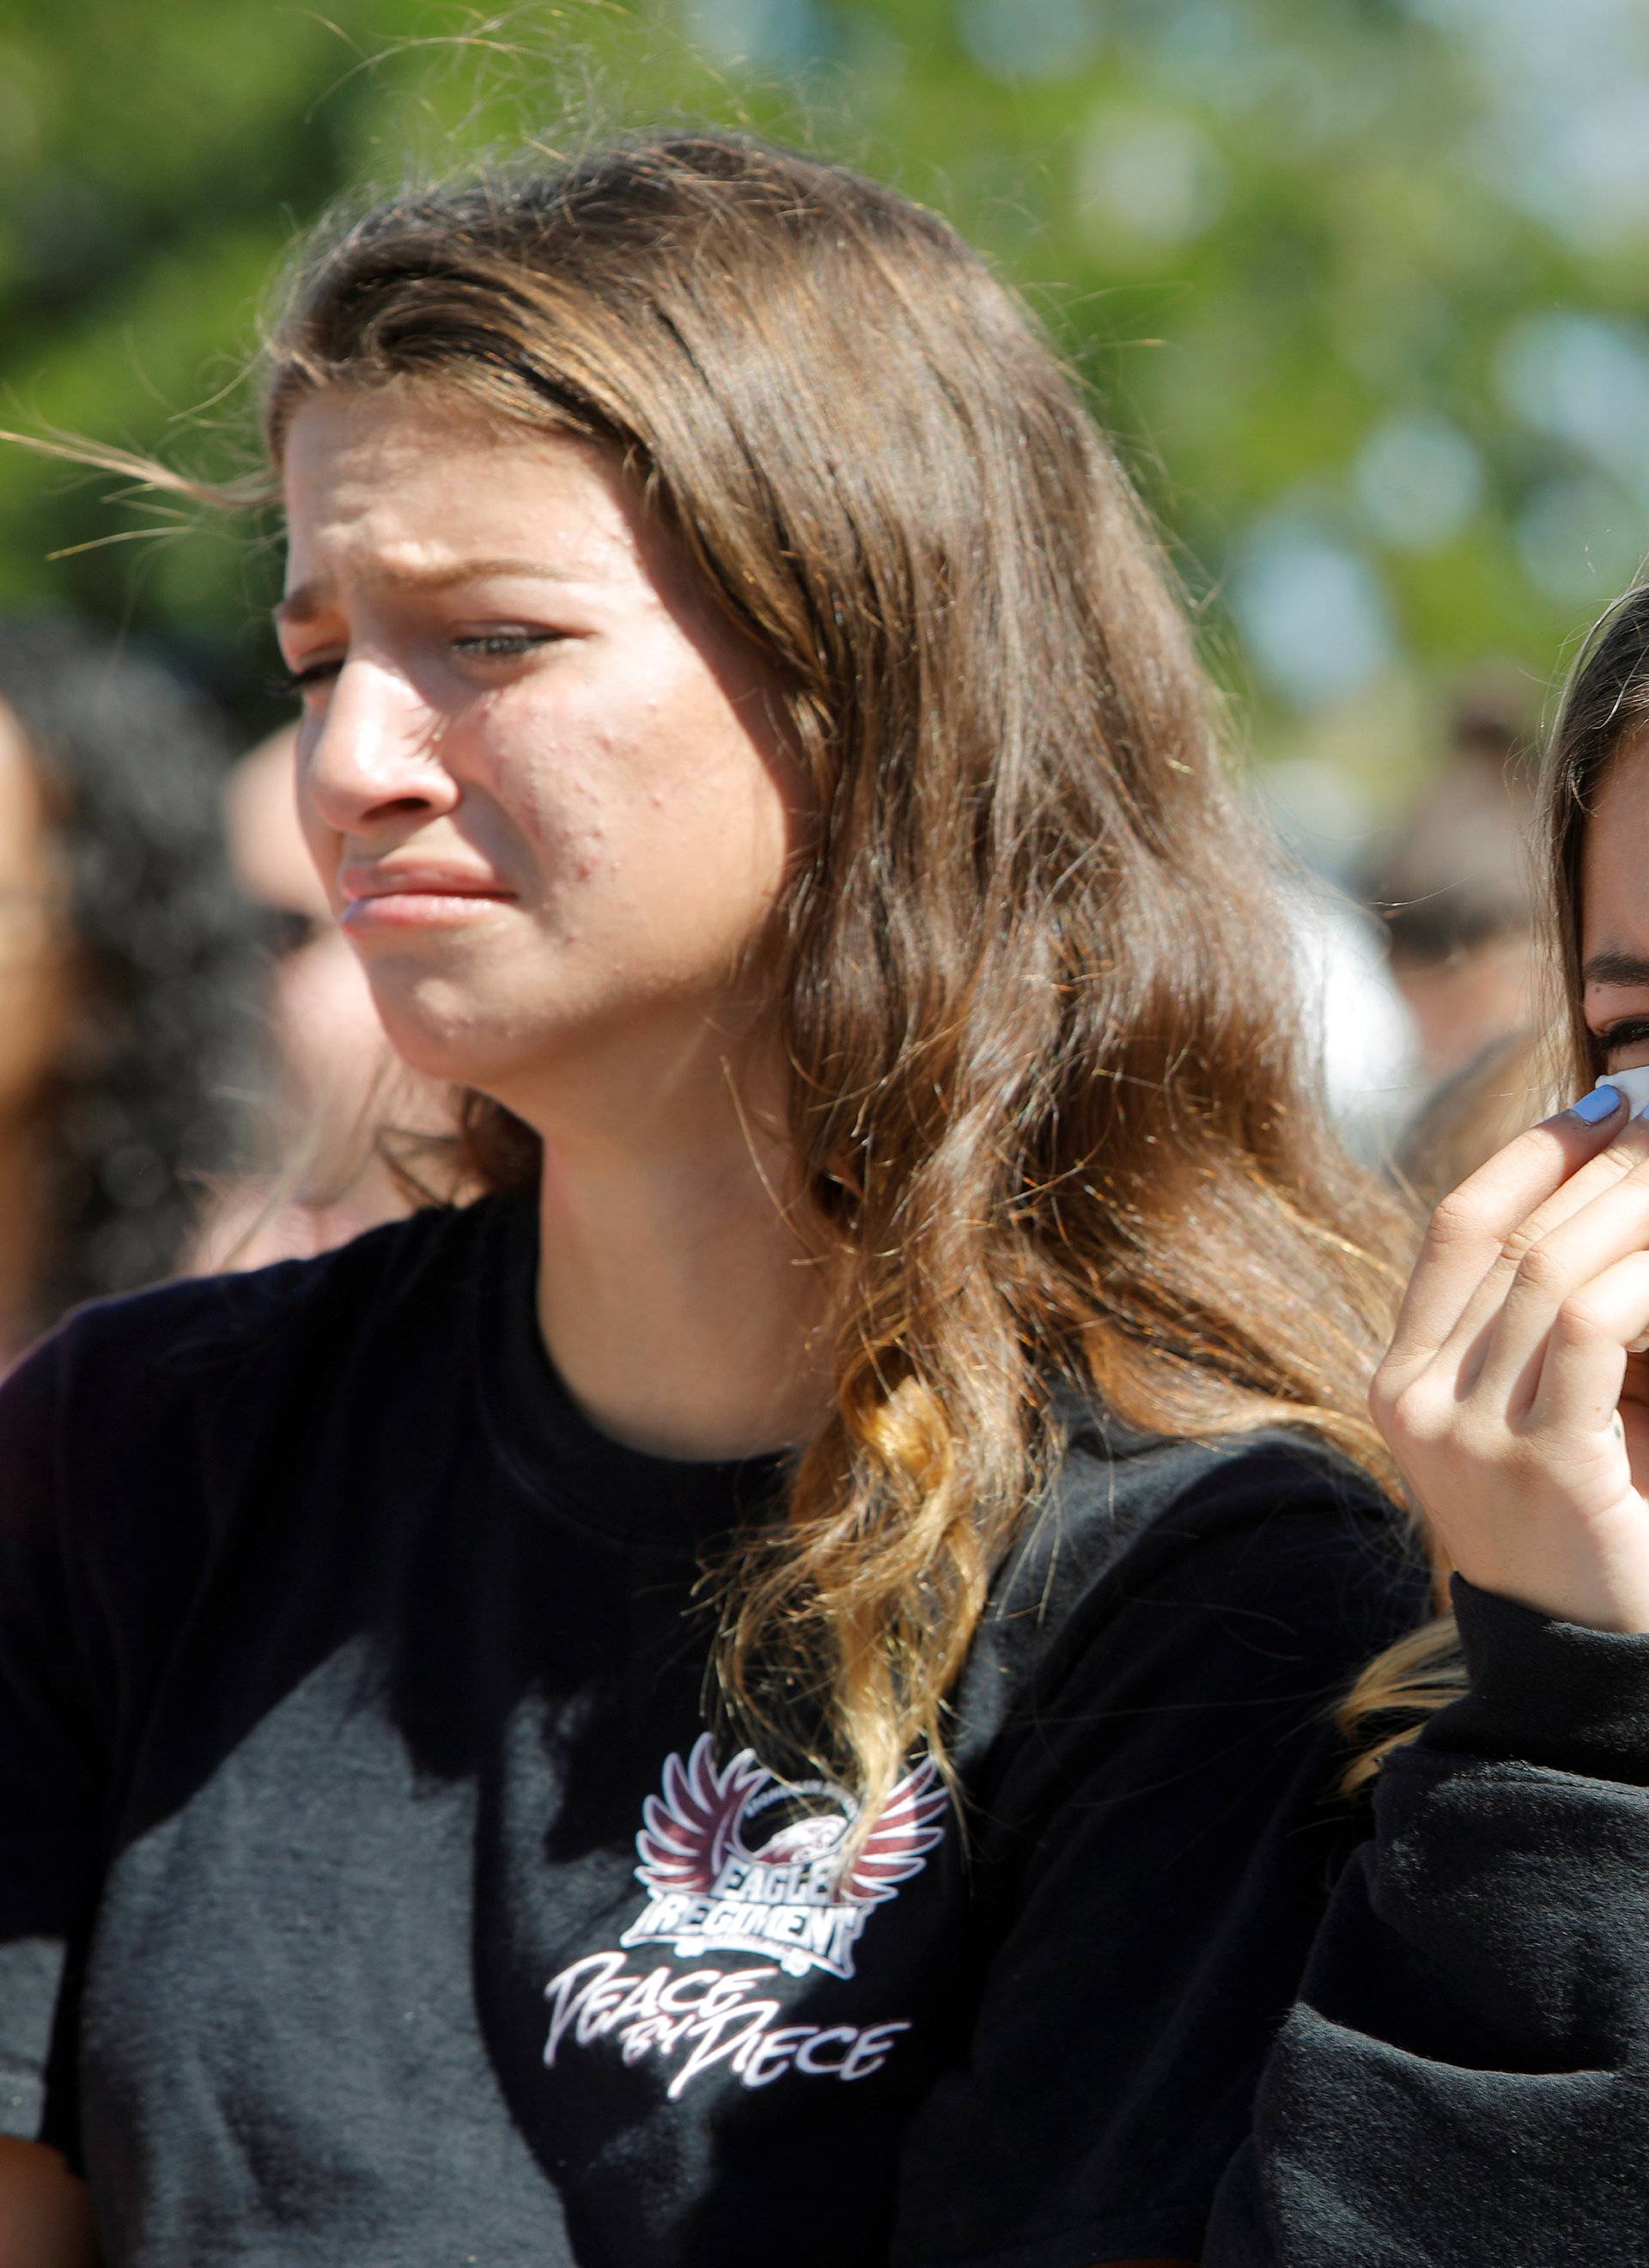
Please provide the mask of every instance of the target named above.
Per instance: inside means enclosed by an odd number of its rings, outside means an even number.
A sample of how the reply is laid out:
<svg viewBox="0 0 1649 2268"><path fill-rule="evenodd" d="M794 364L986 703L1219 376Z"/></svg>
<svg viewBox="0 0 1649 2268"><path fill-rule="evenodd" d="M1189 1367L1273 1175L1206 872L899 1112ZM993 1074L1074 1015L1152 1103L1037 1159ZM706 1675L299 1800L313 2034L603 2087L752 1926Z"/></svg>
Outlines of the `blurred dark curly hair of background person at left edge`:
<svg viewBox="0 0 1649 2268"><path fill-rule="evenodd" d="M45 1261L27 1325L170 1275L200 1179L247 1163L259 928L229 871L234 753L161 662L61 617L0 619L0 705L66 880L70 1014L41 1095Z"/></svg>

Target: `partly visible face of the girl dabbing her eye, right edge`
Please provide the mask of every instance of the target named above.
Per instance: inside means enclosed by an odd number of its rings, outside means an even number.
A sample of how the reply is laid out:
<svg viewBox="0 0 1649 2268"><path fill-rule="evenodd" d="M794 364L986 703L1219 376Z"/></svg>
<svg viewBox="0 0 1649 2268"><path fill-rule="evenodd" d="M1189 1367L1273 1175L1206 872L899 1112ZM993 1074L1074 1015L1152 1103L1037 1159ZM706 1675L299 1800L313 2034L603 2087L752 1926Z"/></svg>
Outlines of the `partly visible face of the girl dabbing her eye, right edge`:
<svg viewBox="0 0 1649 2268"><path fill-rule="evenodd" d="M1585 1023L1608 1070L1649 1064L1649 744L1604 773L1581 850Z"/></svg>

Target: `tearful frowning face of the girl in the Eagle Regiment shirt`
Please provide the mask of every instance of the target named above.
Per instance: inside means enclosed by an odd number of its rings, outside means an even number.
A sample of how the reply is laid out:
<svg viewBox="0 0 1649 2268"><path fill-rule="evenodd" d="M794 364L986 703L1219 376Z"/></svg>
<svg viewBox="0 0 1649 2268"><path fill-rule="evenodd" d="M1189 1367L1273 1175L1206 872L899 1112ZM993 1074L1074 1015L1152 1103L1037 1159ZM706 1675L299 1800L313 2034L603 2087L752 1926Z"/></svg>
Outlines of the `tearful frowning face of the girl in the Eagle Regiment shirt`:
<svg viewBox="0 0 1649 2268"><path fill-rule="evenodd" d="M737 1043L796 771L606 456L333 390L286 501L304 832L399 1052L535 1118L615 1048Z"/></svg>

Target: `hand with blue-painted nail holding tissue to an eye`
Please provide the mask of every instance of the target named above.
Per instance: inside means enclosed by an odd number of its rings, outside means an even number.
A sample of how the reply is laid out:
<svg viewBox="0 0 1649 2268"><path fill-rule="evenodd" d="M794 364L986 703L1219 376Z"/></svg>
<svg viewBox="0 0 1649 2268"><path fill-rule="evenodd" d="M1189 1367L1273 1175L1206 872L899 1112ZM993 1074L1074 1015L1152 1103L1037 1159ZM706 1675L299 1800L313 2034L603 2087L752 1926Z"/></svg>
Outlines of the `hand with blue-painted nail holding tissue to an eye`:
<svg viewBox="0 0 1649 2268"><path fill-rule="evenodd" d="M1647 1334L1649 1123L1624 1100L1531 1127L1436 1209L1370 1411L1468 1581L1649 1631Z"/></svg>

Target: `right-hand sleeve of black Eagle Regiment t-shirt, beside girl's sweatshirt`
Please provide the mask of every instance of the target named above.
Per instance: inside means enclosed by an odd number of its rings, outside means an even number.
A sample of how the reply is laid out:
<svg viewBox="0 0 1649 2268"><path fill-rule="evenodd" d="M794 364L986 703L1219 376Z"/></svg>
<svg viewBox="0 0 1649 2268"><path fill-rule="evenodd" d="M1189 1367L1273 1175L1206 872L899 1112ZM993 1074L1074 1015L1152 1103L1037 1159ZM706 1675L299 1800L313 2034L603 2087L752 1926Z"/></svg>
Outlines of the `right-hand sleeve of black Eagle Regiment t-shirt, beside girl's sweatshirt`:
<svg viewBox="0 0 1649 2268"><path fill-rule="evenodd" d="M978 2016L910 2134L896 2268L1200 2254L1363 1833L1336 1703L1424 1615L1390 1510L1266 1454L1064 1610L978 1803Z"/></svg>

